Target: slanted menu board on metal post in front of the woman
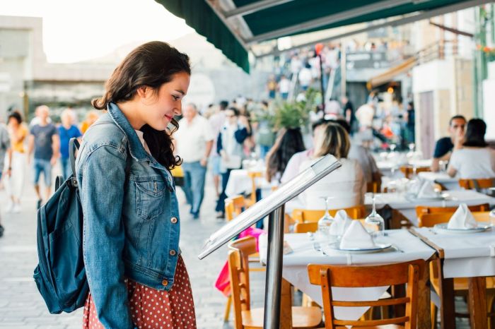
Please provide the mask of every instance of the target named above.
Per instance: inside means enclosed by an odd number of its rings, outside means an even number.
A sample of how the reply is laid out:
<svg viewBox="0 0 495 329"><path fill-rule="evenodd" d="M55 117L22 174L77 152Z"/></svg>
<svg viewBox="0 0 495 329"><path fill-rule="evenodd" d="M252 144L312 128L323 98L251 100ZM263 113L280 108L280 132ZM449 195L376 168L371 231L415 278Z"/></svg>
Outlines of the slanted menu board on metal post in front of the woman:
<svg viewBox="0 0 495 329"><path fill-rule="evenodd" d="M280 186L267 198L258 201L238 217L223 225L214 234L211 234L198 256L199 259L203 259L243 230L269 215L263 328L279 328L282 251L284 249L284 205L340 166L340 162L332 155L325 155L325 157L320 158L297 177Z"/></svg>

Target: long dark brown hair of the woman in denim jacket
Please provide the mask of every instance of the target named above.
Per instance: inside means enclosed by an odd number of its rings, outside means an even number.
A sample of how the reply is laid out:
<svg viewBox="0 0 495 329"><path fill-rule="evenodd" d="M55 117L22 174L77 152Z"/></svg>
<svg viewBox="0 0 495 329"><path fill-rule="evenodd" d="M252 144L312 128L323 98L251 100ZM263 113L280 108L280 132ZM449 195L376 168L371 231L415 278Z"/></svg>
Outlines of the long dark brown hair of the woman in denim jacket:
<svg viewBox="0 0 495 329"><path fill-rule="evenodd" d="M91 102L95 109L107 109L110 102L125 102L131 100L136 91L146 85L156 92L163 83L168 83L176 73L191 74L189 57L179 52L170 44L152 41L134 49L120 63L112 76L105 83L105 95ZM172 119L171 124L179 128ZM180 165L180 157L173 155L173 131L157 131L148 124L141 127L144 140L148 144L151 155L168 169Z"/></svg>

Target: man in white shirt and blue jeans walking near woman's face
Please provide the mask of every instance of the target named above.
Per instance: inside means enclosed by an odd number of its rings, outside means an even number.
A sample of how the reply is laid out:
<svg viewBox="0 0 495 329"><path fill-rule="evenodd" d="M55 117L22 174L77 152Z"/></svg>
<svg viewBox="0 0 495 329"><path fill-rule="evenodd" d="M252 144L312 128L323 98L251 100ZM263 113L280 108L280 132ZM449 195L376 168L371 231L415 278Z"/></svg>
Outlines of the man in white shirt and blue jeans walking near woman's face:
<svg viewBox="0 0 495 329"><path fill-rule="evenodd" d="M177 155L182 158L184 170L183 190L190 213L196 220L204 196L206 164L213 146L214 133L207 119L199 115L194 104L187 104L184 118L179 121L179 129L174 135Z"/></svg>

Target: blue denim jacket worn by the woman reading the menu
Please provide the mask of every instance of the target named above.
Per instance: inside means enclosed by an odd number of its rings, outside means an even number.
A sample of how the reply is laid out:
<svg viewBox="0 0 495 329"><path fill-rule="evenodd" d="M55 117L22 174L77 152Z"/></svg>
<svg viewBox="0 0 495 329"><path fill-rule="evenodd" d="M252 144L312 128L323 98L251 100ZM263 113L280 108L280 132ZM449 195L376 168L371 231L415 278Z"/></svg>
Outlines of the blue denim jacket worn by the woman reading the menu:
<svg viewBox="0 0 495 329"><path fill-rule="evenodd" d="M180 215L172 176L113 103L83 136L76 176L98 318L105 328L133 328L124 277L154 289L173 285Z"/></svg>

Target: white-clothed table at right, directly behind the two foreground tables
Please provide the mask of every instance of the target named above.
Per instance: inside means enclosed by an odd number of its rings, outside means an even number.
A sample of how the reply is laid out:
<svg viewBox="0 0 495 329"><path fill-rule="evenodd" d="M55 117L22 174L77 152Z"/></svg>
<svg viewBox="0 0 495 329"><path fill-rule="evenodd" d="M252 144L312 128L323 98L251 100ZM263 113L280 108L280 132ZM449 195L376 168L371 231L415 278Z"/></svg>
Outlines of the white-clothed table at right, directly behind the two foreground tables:
<svg viewBox="0 0 495 329"><path fill-rule="evenodd" d="M426 205L430 207L456 207L460 203L466 203L467 205L489 203L489 205L495 205L495 198L474 190L445 191L443 194L447 195L445 200L411 198L405 193L375 193L375 202L377 209L385 207L392 208L392 217L395 216L392 218L392 228L400 227L400 225L397 226L397 217L406 219L411 225L417 226L417 205ZM364 203L368 207L372 204L371 194L366 194Z"/></svg>

